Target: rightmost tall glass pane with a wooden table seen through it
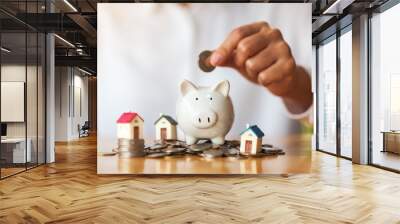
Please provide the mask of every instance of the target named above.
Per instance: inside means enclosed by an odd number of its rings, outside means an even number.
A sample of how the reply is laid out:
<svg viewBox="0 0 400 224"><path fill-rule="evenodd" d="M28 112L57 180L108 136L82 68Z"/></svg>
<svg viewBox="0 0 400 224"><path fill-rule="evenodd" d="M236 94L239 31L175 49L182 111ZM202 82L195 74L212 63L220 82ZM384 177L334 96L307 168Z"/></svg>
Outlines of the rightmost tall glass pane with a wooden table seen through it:
<svg viewBox="0 0 400 224"><path fill-rule="evenodd" d="M371 162L400 171L400 4L371 18Z"/></svg>

